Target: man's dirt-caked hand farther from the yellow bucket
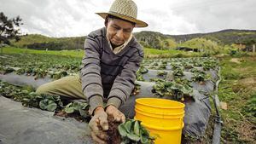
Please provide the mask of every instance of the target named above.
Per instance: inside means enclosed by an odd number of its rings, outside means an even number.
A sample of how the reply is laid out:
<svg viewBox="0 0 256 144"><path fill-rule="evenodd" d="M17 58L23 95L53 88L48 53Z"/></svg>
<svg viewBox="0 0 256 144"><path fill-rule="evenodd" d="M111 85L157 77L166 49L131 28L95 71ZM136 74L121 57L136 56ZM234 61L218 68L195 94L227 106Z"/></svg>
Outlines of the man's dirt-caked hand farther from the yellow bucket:
<svg viewBox="0 0 256 144"><path fill-rule="evenodd" d="M96 108L94 116L90 119L89 127L91 137L96 143L107 144L108 114L104 112L102 107Z"/></svg>

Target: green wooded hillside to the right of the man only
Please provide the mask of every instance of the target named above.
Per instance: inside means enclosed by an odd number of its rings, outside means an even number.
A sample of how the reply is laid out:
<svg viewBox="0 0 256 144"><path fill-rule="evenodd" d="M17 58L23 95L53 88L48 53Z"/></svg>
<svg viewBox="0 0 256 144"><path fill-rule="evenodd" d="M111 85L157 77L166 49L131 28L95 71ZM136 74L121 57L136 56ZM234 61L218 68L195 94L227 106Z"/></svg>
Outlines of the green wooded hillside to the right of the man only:
<svg viewBox="0 0 256 144"><path fill-rule="evenodd" d="M205 41L212 41L211 43L218 43L219 46L231 45L233 43L249 44L248 41L254 41L254 43L256 42L256 31L254 30L230 29L219 32L195 33L187 35L164 35L160 32L137 32L134 35L144 46L150 45L155 49L165 49L166 45L162 43L165 43L168 40L172 40L174 43L170 45L169 49L177 48L177 46L183 45L189 46L189 41L197 41L197 45L199 45L199 43L202 44ZM198 41L198 39L201 39L202 42Z"/></svg>

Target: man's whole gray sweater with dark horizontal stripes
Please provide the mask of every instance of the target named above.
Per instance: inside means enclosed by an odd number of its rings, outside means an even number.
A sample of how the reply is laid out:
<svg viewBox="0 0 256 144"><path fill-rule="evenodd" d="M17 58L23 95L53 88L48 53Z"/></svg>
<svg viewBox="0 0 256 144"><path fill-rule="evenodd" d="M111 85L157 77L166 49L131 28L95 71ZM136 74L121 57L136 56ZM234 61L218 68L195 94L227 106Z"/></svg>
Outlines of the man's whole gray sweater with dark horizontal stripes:
<svg viewBox="0 0 256 144"><path fill-rule="evenodd" d="M90 112L108 105L120 107L131 95L136 72L143 60L142 46L135 37L118 54L109 47L106 27L90 32L84 43L81 80Z"/></svg>

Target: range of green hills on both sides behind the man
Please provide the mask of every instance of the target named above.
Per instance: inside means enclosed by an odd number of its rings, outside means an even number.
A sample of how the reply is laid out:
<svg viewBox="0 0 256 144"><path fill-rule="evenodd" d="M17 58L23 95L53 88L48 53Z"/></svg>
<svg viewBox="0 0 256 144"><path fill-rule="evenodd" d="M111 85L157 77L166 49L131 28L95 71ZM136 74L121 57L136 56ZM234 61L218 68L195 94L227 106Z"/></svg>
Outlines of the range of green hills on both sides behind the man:
<svg viewBox="0 0 256 144"><path fill-rule="evenodd" d="M135 32L134 36L146 48L177 49L186 47L191 49L216 50L235 43L251 47L256 43L254 30L223 30L219 32L195 33L187 35L165 35L160 32ZM45 37L32 34L22 36L13 45L27 49L83 49L85 37Z"/></svg>

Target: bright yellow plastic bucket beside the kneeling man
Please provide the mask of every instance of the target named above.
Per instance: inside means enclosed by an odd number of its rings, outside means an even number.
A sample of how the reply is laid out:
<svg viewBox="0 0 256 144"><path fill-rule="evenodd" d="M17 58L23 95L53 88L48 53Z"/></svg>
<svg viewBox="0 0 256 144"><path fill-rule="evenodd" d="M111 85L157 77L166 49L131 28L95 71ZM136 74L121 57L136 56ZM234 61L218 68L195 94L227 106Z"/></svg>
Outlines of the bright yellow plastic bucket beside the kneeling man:
<svg viewBox="0 0 256 144"><path fill-rule="evenodd" d="M181 143L185 105L178 101L158 98L139 98L135 105L135 119L156 136L156 144Z"/></svg>

